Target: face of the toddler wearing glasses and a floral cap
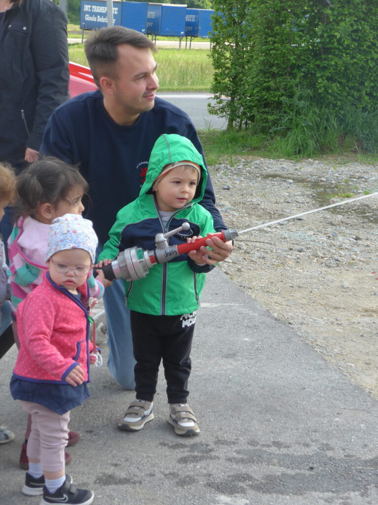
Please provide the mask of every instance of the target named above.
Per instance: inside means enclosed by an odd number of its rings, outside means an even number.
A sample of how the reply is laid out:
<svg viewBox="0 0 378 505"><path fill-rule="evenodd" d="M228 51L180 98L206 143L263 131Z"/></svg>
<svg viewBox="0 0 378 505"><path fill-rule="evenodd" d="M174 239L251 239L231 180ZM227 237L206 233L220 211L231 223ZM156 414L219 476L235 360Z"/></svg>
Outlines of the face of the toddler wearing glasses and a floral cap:
<svg viewBox="0 0 378 505"><path fill-rule="evenodd" d="M59 286L77 294L92 268L89 252L84 249L66 249L55 252L48 261L50 278Z"/></svg>

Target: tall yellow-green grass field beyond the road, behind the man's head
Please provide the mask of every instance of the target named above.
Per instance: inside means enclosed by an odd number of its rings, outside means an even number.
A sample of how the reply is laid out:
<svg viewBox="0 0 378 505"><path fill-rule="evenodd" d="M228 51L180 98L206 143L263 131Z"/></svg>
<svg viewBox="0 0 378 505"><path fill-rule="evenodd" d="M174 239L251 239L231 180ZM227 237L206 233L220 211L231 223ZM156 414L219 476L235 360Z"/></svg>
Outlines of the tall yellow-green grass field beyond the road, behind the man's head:
<svg viewBox="0 0 378 505"><path fill-rule="evenodd" d="M213 67L208 49L163 49L154 54L160 91L209 91ZM70 44L70 61L88 66L83 44Z"/></svg>

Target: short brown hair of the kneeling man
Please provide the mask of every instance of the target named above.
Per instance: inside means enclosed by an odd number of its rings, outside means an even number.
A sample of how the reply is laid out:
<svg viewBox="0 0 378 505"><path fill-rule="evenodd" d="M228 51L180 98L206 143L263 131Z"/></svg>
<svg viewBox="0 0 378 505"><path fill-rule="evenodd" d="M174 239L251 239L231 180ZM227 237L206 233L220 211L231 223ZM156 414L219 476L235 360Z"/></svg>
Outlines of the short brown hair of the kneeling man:
<svg viewBox="0 0 378 505"><path fill-rule="evenodd" d="M148 47L157 53L156 46L146 35L124 26L111 26L101 28L89 36L84 43L93 79L100 87L100 78L103 75L115 79L117 77L118 48L120 44L129 44L133 47Z"/></svg>

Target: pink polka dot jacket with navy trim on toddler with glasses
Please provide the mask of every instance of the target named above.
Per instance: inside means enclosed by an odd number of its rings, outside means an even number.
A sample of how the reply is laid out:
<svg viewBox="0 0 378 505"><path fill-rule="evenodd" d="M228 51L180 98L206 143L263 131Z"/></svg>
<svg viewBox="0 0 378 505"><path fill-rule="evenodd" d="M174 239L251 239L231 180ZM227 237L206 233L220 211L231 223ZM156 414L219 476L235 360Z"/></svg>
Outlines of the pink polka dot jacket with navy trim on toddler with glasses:
<svg viewBox="0 0 378 505"><path fill-rule="evenodd" d="M103 292L96 280L98 297ZM68 384L67 374L81 365L89 382L88 282L78 288L81 300L44 273L42 283L18 306L20 350L14 377L32 382ZM73 387L73 386L71 386Z"/></svg>

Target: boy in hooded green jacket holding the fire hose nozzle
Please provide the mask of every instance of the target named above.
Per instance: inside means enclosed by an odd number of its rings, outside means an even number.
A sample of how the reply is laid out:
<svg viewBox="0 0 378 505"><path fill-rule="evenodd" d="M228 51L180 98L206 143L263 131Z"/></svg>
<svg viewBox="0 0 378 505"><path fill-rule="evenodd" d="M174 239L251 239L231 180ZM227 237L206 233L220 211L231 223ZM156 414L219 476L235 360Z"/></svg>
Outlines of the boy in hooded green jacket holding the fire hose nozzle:
<svg viewBox="0 0 378 505"><path fill-rule="evenodd" d="M151 151L146 180L139 197L123 207L99 256L108 264L129 247L155 248L155 235L189 223L190 228L168 238L169 245L194 242L213 233L211 214L199 202L207 171L193 143L180 135L161 135ZM205 274L213 266L202 263L204 253L191 251L168 263L155 265L137 281L125 281L131 311L136 399L118 428L141 430L154 418L152 408L158 370L163 361L169 403L168 422L177 435L200 432L187 404L190 352Z"/></svg>

